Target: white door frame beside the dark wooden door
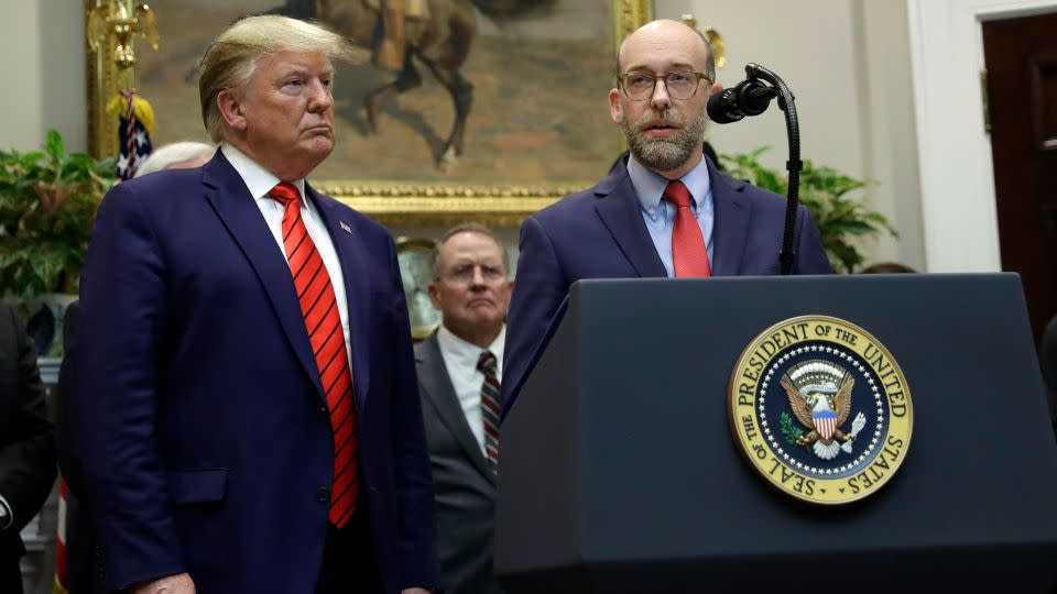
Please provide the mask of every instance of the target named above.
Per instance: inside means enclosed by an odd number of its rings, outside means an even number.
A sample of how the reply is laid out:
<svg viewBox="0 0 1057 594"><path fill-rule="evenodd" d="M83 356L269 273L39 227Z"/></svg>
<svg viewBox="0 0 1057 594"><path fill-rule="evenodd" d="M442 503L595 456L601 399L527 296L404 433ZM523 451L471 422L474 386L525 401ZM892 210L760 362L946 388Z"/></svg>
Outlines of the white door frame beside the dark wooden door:
<svg viewBox="0 0 1057 594"><path fill-rule="evenodd" d="M981 23L1055 11L1057 0L907 0L929 272L1002 268Z"/></svg>

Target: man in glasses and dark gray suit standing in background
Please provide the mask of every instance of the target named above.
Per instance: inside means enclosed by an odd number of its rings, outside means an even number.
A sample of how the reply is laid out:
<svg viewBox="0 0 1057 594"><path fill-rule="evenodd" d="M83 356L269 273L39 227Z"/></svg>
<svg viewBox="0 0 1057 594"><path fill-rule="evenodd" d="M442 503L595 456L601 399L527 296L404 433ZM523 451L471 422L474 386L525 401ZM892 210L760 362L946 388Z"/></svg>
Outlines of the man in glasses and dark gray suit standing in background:
<svg viewBox="0 0 1057 594"><path fill-rule="evenodd" d="M429 283L442 326L415 345L446 594L502 594L492 573L492 526L506 271L506 251L488 228L448 231L434 251Z"/></svg>

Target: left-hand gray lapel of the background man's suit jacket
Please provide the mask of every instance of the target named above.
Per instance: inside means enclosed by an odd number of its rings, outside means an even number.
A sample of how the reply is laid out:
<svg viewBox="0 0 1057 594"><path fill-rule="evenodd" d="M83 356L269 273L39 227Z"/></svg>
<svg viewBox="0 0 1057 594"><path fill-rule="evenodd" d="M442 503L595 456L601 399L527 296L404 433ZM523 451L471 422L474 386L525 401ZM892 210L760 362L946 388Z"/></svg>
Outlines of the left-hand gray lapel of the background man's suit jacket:
<svg viewBox="0 0 1057 594"><path fill-rule="evenodd" d="M418 373L418 382L422 384L423 392L433 403L448 431L466 451L467 457L473 461L473 466L489 482L495 483L495 474L489 470L484 461L484 454L481 452L481 446L473 437L473 432L470 431L470 425L466 421L466 415L459 405L459 398L451 387L451 378L448 376L448 369L444 364L444 356L440 354L440 343L437 341L436 332L426 339L419 353L415 363L422 366Z"/></svg>

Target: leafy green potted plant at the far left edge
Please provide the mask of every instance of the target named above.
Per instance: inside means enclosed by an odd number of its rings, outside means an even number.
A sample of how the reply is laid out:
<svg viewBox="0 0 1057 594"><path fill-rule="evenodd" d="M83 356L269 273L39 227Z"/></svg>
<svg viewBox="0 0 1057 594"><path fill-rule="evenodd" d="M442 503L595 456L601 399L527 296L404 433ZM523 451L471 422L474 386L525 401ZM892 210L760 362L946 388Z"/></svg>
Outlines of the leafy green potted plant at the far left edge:
<svg viewBox="0 0 1057 594"><path fill-rule="evenodd" d="M56 324L76 299L96 208L113 185L113 165L112 158L67 154L54 130L43 151L0 151L0 297L28 314L41 355L62 355ZM34 319L37 315L43 319Z"/></svg>

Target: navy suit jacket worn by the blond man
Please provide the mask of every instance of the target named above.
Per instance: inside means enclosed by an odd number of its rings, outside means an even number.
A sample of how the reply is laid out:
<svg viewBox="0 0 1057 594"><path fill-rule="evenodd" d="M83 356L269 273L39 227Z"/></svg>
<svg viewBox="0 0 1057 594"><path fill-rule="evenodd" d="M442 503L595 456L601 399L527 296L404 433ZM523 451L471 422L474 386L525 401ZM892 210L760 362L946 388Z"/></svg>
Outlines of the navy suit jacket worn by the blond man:
<svg viewBox="0 0 1057 594"><path fill-rule="evenodd" d="M385 591L432 587L433 487L395 248L305 191L348 297L359 509ZM80 304L69 438L109 587L187 571L204 593L313 592L333 433L286 258L220 152L110 190Z"/></svg>

